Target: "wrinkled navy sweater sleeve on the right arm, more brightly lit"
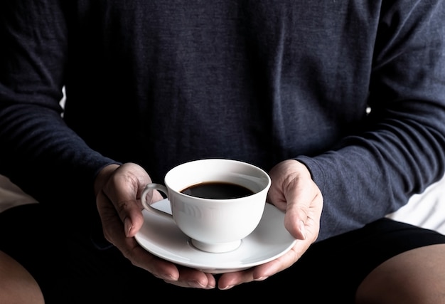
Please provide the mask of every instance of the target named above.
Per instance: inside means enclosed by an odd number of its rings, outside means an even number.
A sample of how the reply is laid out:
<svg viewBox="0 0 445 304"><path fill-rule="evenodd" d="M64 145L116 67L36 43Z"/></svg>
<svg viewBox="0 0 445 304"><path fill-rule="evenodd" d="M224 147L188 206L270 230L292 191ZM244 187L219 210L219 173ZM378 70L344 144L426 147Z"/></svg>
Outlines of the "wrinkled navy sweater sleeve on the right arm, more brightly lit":
<svg viewBox="0 0 445 304"><path fill-rule="evenodd" d="M383 1L367 124L329 152L297 158L323 193L319 240L390 214L443 176L443 16L444 1Z"/></svg>

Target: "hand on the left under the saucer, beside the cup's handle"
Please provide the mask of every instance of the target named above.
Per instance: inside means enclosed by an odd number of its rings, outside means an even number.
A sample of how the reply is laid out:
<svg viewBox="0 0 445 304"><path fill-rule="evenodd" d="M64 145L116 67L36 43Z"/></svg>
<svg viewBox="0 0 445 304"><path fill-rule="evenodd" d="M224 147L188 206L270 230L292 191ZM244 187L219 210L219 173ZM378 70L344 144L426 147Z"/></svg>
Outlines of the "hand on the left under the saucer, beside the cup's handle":
<svg viewBox="0 0 445 304"><path fill-rule="evenodd" d="M146 269L167 283L182 287L215 288L213 275L195 269L176 266L151 255L139 246L134 236L144 224L140 195L151 179L137 164L109 165L95 180L97 209L105 238L119 248L134 266ZM154 192L152 201L162 199Z"/></svg>

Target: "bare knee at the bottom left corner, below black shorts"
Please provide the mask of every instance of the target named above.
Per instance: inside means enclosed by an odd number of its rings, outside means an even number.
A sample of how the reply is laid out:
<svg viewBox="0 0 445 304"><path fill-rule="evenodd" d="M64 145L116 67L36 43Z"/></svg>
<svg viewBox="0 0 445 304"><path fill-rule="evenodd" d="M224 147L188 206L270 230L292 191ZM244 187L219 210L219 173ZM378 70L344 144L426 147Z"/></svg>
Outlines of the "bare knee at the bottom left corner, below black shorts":
<svg viewBox="0 0 445 304"><path fill-rule="evenodd" d="M20 263L0 251L0 303L43 304L37 282Z"/></svg>

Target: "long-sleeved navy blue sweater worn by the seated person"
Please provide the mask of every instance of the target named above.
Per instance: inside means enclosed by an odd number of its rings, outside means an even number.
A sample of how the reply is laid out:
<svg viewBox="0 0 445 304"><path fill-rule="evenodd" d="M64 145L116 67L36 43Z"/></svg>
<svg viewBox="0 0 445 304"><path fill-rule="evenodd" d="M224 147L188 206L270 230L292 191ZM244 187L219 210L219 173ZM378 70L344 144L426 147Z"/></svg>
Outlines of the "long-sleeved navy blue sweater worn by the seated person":
<svg viewBox="0 0 445 304"><path fill-rule="evenodd" d="M163 182L190 159L294 158L323 193L319 240L357 229L444 174L444 16L441 0L1 0L0 172L82 216L112 162Z"/></svg>

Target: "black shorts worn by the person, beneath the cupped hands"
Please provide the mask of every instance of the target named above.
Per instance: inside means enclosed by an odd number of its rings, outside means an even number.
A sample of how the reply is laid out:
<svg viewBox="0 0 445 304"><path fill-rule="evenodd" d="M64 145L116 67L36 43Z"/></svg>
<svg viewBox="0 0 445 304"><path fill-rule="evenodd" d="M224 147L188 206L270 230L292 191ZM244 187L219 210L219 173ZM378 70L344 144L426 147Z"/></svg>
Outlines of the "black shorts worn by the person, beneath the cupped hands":
<svg viewBox="0 0 445 304"><path fill-rule="evenodd" d="M46 304L149 303L157 294L171 300L294 303L353 303L363 278L383 261L412 248L445 243L445 236L390 219L314 243L291 268L262 282L231 290L179 288L132 266L116 248L98 250L82 229L64 225L63 214L40 204L0 214L0 250L36 278ZM78 225L84 222L79 219ZM72 228L72 227L71 227ZM84 229L85 230L85 229ZM193 297L193 298L191 298Z"/></svg>

